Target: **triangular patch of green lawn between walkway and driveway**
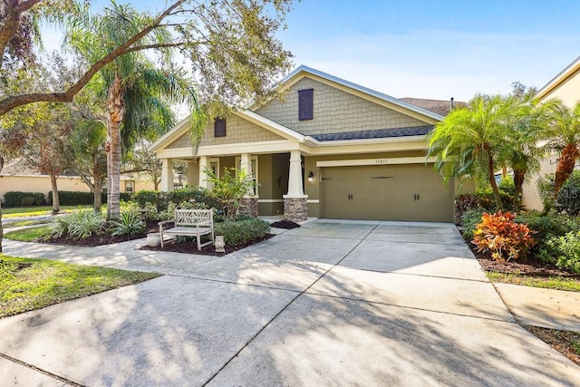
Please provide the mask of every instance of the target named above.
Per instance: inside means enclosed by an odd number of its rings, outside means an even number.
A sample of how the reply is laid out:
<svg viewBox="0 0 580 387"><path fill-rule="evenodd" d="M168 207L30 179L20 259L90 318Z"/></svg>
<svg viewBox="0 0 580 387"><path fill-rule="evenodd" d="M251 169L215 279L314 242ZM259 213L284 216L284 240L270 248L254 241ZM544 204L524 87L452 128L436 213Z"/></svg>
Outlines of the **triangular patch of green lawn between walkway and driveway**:
<svg viewBox="0 0 580 387"><path fill-rule="evenodd" d="M160 276L0 254L0 318Z"/></svg>

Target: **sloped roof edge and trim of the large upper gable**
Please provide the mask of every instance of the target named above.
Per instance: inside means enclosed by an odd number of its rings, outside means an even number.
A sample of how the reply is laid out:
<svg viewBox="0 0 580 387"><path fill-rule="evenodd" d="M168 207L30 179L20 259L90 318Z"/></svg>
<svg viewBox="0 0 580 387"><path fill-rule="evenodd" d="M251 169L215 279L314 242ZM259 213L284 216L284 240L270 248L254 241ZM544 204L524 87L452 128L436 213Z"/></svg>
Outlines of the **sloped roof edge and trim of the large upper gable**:
<svg viewBox="0 0 580 387"><path fill-rule="evenodd" d="M382 92L376 92L372 89L361 86L359 84L345 81L342 78L338 78L334 75L324 73L319 70L315 70L308 66L304 66L304 64L298 66L293 72L289 73L284 77L284 79L282 79L279 87L280 91L288 89L290 86L300 81L308 74L313 75L315 77L314 79L317 78L319 81L332 82L335 85L342 86L343 88L348 89L351 92L356 92L359 96L371 97L368 98L371 101L375 100L374 102L384 102L384 104L388 105L391 108L394 108L395 110L401 112L411 111L420 114L421 116L429 117L430 119L435 121L443 120L443 116L434 111L426 110L420 106L411 104L409 102L401 101L397 98L391 97L390 95L384 94Z"/></svg>

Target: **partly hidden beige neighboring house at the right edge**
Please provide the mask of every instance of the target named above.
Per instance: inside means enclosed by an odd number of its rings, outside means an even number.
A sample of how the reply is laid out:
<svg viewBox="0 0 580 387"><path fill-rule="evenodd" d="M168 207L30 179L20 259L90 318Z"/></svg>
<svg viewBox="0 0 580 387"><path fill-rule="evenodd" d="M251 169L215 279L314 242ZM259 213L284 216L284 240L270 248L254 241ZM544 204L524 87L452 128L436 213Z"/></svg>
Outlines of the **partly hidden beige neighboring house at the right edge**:
<svg viewBox="0 0 580 387"><path fill-rule="evenodd" d="M580 57L570 63L554 79L547 82L537 93L536 98L540 102L556 99L562 101L569 108L573 108L580 101ZM527 209L541 210L543 208L542 197L539 194L536 184L539 177L544 177L547 173L556 173L556 163L558 156L550 155L543 160L540 171L531 179L527 180L523 187L522 204ZM577 165L576 165L576 168Z"/></svg>

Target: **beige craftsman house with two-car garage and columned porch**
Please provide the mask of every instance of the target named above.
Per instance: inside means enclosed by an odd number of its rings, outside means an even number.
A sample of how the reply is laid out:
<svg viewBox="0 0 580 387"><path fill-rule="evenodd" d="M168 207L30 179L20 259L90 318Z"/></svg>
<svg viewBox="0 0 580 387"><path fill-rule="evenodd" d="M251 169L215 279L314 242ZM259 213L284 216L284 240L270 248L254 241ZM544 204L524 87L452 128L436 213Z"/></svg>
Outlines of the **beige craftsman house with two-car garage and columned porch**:
<svg viewBox="0 0 580 387"><path fill-rule="evenodd" d="M257 186L244 206L254 215L453 220L455 184L427 160L425 138L449 102L405 102L305 66L279 87L281 99L208 124L197 153L188 120L156 141L161 189L173 189L172 160L185 160L202 188L206 168L249 171Z"/></svg>

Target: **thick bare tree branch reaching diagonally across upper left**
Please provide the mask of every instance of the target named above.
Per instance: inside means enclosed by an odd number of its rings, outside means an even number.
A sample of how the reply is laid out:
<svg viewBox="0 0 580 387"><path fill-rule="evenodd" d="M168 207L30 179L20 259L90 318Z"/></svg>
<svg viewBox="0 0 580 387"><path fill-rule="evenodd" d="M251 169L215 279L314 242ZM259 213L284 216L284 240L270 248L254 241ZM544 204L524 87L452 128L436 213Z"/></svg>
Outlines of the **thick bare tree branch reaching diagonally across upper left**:
<svg viewBox="0 0 580 387"><path fill-rule="evenodd" d="M32 1L41 1L41 0L30 0ZM140 41L145 35L149 34L155 28L160 26L161 21L167 17L175 8L179 7L185 3L186 0L179 0L175 2L173 5L170 5L163 13L158 15L153 23L142 29L138 34L133 35L129 40L125 43L119 45L115 50L111 51L107 55L103 56L101 60L97 61L96 63L92 64L91 68L82 75L82 77L73 84L66 92L50 92L50 93L43 93L43 92L33 92L21 95L14 95L5 98L4 100L0 101L0 116L4 115L8 111L12 111L14 108L18 106L22 106L28 103L34 102L73 102L74 96L82 90L84 86L88 82L91 81L92 77L98 73L104 66L114 61L117 57L121 56L128 50L131 45Z"/></svg>

